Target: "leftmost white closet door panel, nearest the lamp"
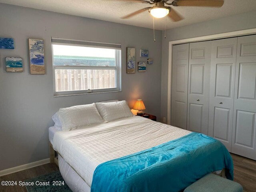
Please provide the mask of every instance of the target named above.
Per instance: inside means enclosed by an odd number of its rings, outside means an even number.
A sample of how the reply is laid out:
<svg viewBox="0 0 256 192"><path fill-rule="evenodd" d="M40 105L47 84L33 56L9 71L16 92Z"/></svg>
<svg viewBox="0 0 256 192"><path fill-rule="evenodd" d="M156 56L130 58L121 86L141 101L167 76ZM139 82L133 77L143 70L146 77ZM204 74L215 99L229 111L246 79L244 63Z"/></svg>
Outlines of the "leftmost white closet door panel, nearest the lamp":
<svg viewBox="0 0 256 192"><path fill-rule="evenodd" d="M173 46L171 125L187 129L189 44Z"/></svg>

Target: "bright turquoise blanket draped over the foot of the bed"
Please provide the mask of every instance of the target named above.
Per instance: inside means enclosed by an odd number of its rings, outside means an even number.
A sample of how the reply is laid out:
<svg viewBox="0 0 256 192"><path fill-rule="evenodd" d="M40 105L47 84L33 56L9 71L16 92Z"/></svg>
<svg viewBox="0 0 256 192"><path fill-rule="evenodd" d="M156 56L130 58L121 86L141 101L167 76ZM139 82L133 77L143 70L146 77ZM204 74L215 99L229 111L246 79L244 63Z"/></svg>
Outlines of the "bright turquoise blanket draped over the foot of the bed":
<svg viewBox="0 0 256 192"><path fill-rule="evenodd" d="M233 180L232 158L226 147L214 138L192 132L100 164L94 171L91 192L178 192L222 168Z"/></svg>

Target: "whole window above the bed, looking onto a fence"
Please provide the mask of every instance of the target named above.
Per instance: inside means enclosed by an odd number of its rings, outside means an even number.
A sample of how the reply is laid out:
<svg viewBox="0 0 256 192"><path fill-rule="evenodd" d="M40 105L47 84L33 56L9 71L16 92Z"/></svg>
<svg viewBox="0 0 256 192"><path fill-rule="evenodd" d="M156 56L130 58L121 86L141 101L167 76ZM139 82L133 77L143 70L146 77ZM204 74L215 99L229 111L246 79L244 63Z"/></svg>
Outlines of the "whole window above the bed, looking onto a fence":
<svg viewBox="0 0 256 192"><path fill-rule="evenodd" d="M120 91L121 45L52 38L54 96Z"/></svg>

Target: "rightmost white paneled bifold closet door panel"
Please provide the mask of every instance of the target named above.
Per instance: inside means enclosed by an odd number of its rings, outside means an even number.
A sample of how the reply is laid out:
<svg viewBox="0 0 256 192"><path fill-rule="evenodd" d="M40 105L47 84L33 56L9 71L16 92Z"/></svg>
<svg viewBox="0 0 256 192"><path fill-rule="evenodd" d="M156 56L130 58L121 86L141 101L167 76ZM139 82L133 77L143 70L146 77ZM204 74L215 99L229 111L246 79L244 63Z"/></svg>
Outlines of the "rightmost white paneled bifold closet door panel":
<svg viewBox="0 0 256 192"><path fill-rule="evenodd" d="M238 37L231 152L256 160L256 35Z"/></svg>

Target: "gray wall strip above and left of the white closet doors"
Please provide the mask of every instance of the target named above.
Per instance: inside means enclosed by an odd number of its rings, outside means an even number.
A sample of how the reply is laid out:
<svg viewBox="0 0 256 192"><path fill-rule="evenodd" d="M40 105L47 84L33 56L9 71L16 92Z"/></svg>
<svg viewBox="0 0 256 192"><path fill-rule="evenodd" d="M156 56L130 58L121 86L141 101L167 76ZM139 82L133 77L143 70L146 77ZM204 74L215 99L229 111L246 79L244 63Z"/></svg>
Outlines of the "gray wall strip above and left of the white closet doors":
<svg viewBox="0 0 256 192"><path fill-rule="evenodd" d="M161 84L161 119L166 117L167 122L167 90L168 90L168 56L169 41L232 32L244 29L256 28L256 11L237 14L216 20L210 20L198 24L192 24L180 28L174 28L162 32L162 84Z"/></svg>

